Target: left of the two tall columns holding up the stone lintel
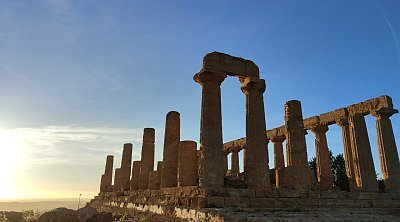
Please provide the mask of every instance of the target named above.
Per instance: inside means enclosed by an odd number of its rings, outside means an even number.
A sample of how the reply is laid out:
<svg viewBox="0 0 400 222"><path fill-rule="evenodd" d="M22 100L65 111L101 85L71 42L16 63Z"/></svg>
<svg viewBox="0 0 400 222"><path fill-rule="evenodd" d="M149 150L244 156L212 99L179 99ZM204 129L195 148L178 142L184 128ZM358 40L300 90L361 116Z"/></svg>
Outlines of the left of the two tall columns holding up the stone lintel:
<svg viewBox="0 0 400 222"><path fill-rule="evenodd" d="M221 88L225 73L202 71L194 80L202 86L200 123L199 185L222 187L226 156L222 143Z"/></svg>

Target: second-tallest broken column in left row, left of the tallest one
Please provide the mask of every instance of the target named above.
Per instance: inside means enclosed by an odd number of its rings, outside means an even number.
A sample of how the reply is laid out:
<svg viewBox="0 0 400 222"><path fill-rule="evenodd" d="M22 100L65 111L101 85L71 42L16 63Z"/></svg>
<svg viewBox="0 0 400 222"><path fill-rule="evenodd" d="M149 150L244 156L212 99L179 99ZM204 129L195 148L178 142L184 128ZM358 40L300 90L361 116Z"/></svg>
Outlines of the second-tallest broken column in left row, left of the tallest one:
<svg viewBox="0 0 400 222"><path fill-rule="evenodd" d="M149 186L149 173L154 170L155 129L145 128L143 132L142 159L140 161L139 189Z"/></svg>

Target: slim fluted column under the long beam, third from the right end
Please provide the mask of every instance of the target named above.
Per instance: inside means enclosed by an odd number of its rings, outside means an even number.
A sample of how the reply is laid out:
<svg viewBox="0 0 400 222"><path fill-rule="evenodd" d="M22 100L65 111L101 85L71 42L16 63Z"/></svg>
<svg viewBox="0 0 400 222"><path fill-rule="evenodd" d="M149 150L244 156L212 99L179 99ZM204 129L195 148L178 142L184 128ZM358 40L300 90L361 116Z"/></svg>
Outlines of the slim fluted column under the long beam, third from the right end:
<svg viewBox="0 0 400 222"><path fill-rule="evenodd" d="M342 128L344 161L346 165L346 175L349 181L349 189L350 191L356 191L357 185L354 173L353 148L351 147L349 121L347 118L340 119L336 124Z"/></svg>

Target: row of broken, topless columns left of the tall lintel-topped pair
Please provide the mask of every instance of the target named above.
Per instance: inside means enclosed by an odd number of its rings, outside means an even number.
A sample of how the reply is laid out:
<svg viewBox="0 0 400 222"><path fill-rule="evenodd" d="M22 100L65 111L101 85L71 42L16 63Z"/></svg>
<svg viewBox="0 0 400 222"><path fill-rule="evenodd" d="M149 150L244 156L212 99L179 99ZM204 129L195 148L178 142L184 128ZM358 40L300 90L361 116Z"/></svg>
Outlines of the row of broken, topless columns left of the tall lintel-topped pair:
<svg viewBox="0 0 400 222"><path fill-rule="evenodd" d="M163 161L154 171L155 130L145 128L141 160L133 161L132 144L124 144L121 167L115 169L112 184L113 156L107 156L100 191L129 191L198 185L198 153L194 141L180 141L180 114L171 111L166 117Z"/></svg>

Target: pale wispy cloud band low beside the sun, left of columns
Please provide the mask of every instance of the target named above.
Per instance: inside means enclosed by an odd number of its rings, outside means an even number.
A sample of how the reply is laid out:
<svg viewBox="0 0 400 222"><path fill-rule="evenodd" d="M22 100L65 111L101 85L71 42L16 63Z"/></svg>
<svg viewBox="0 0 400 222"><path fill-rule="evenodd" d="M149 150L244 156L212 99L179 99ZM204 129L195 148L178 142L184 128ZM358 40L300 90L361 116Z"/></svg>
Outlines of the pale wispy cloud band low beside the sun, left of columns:
<svg viewBox="0 0 400 222"><path fill-rule="evenodd" d="M24 154L24 163L96 163L106 154L119 154L126 142L140 144L142 129L47 126L43 128L0 129L13 135ZM134 153L134 156L138 153Z"/></svg>

